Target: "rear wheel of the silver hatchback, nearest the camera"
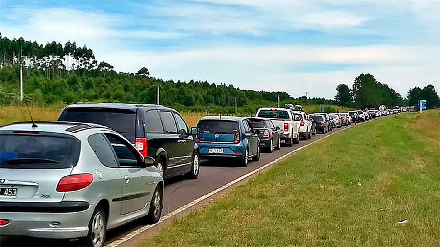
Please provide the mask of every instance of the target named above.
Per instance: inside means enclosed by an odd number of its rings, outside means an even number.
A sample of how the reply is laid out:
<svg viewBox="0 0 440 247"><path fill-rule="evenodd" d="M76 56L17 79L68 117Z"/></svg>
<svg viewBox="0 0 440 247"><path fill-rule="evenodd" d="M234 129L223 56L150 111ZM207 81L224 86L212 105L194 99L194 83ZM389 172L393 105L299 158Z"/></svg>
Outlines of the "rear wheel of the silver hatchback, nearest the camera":
<svg viewBox="0 0 440 247"><path fill-rule="evenodd" d="M106 239L107 215L101 206L97 205L88 223L88 234L82 239L81 245L103 247Z"/></svg>

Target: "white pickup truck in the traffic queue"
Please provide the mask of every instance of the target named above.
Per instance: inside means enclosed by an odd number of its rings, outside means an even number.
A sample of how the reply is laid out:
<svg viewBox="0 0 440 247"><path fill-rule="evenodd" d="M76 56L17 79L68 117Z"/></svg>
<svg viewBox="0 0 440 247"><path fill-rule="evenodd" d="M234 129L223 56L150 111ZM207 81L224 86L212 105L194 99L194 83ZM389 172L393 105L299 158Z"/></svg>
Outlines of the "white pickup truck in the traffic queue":
<svg viewBox="0 0 440 247"><path fill-rule="evenodd" d="M281 143L287 146L292 146L293 143L299 143L300 126L296 122L299 117L293 115L291 110L280 107L260 107L256 116L271 119L275 126L279 126Z"/></svg>

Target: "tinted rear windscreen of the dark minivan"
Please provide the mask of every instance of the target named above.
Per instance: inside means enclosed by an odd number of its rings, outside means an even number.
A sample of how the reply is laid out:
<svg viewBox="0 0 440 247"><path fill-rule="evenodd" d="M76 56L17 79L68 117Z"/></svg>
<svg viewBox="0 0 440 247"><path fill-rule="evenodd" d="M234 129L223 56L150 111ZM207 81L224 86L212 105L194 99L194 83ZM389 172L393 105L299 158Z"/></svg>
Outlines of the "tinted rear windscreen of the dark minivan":
<svg viewBox="0 0 440 247"><path fill-rule="evenodd" d="M114 108L71 107L64 110L58 121L85 122L105 125L135 142L136 112Z"/></svg>

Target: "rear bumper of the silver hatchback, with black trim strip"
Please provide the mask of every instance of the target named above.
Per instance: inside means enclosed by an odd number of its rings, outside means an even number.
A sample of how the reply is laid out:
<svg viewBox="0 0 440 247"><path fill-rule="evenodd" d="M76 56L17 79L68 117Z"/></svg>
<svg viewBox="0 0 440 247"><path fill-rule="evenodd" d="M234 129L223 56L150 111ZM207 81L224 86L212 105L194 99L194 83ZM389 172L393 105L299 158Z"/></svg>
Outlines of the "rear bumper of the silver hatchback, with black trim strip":
<svg viewBox="0 0 440 247"><path fill-rule="evenodd" d="M1 203L0 218L7 219L10 223L7 226L0 228L0 235L32 236L55 239L70 239L87 236L88 223L92 217L93 207L86 203L87 208L85 210L77 211L85 207L85 202L77 203L79 203L78 205L82 205L82 208L77 206L65 208L70 212L59 212L59 208L54 208L54 203L46 204L49 204L51 209L58 212L47 211L48 208L50 208L49 206L45 208L44 206L32 207L33 205L29 203L23 203L23 206L21 207L18 206L17 208L24 210L18 212L18 209L12 208L11 205ZM59 222L59 225L54 224L54 222Z"/></svg>

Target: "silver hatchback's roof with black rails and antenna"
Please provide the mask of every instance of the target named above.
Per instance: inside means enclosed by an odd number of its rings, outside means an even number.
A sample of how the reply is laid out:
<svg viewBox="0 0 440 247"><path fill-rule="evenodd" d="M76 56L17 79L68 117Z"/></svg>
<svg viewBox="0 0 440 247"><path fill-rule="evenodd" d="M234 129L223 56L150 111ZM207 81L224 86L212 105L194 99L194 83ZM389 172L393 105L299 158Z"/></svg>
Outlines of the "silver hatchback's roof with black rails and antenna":
<svg viewBox="0 0 440 247"><path fill-rule="evenodd" d="M33 123L37 125L37 127L32 127ZM15 122L8 125L0 126L0 130L21 130L21 131L42 131L42 132L58 132L58 133L66 133L66 132L77 132L84 129L92 129L92 128L102 128L102 129L110 129L106 126L99 124L91 124L91 123L80 123L80 122L44 122L44 121L35 121L35 122Z"/></svg>

